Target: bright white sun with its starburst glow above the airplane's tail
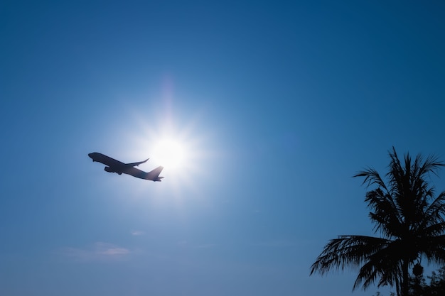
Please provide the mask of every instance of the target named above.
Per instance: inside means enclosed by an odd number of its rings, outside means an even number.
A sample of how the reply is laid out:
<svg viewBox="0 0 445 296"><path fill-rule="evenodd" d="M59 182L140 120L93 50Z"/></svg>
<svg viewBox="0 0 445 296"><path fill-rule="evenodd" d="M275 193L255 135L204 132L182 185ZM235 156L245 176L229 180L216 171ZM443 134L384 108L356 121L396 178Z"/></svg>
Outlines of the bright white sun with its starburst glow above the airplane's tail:
<svg viewBox="0 0 445 296"><path fill-rule="evenodd" d="M199 116L193 115L186 120L179 117L175 121L171 111L154 109L151 115L137 110L131 117L135 124L127 133L128 141L124 141L131 149L130 159L149 158L138 169L149 172L162 166L163 185L156 187L173 190L172 197L180 199L188 190L198 190L198 180L209 176L205 173L207 160L214 155L209 150L211 137L200 124Z"/></svg>

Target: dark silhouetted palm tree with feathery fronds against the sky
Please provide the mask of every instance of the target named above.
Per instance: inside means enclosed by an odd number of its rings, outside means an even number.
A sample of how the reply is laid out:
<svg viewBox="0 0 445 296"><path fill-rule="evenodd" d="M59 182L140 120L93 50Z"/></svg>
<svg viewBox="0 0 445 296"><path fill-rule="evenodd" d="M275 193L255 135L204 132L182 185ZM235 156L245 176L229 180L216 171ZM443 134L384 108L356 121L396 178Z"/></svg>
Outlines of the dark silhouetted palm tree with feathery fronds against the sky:
<svg viewBox="0 0 445 296"><path fill-rule="evenodd" d="M402 165L394 147L390 158L387 182L373 168L354 176L364 177L367 187L376 187L366 193L365 202L380 237L332 239L311 266L311 275L359 268L353 290L360 285L365 290L378 280L378 287L395 286L398 296L407 296L414 262L426 258L428 263L445 264L445 191L434 197L434 187L427 180L445 163L433 155L425 160L417 155L413 162L407 154Z"/></svg>

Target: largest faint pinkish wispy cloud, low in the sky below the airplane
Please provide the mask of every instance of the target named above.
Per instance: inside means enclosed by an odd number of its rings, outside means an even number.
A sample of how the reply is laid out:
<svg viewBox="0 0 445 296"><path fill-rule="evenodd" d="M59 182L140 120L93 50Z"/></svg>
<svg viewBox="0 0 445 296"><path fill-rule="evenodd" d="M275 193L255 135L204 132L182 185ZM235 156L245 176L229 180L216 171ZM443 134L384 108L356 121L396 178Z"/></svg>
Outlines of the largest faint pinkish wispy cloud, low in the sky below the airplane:
<svg viewBox="0 0 445 296"><path fill-rule="evenodd" d="M113 261L126 258L131 251L111 243L97 242L90 248L63 248L61 253L76 261Z"/></svg>

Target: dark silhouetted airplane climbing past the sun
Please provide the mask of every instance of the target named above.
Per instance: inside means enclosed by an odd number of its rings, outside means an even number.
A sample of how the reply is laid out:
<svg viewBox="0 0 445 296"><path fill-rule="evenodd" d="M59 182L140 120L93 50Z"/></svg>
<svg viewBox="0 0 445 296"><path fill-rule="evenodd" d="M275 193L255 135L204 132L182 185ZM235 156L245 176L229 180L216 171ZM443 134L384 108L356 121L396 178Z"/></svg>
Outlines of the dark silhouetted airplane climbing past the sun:
<svg viewBox="0 0 445 296"><path fill-rule="evenodd" d="M139 161L138 163L121 163L119 160L115 160L114 158L110 158L107 155L102 153L89 153L88 156L92 159L93 162L97 161L99 163L103 163L107 165L104 170L107 172L116 172L119 175L122 175L122 172L127 175L132 175L133 177L139 177L144 180L158 181L161 182L163 177L159 177L159 174L163 170L163 166L159 166L150 172L144 172L143 170L139 170L134 168L142 163L145 163L149 158L143 161Z"/></svg>

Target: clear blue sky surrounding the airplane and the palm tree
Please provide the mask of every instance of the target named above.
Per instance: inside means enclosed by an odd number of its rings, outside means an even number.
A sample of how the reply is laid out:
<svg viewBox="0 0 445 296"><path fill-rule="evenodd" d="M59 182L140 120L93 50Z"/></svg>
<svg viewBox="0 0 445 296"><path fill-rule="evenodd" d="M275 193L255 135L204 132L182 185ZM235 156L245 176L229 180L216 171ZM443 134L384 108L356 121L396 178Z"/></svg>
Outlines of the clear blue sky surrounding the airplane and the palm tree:
<svg viewBox="0 0 445 296"><path fill-rule="evenodd" d="M350 294L353 271L309 268L329 239L372 234L351 176L384 172L392 146L445 160L444 13L1 2L0 294ZM162 138L186 158L163 182L87 156L151 170Z"/></svg>

